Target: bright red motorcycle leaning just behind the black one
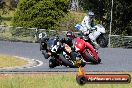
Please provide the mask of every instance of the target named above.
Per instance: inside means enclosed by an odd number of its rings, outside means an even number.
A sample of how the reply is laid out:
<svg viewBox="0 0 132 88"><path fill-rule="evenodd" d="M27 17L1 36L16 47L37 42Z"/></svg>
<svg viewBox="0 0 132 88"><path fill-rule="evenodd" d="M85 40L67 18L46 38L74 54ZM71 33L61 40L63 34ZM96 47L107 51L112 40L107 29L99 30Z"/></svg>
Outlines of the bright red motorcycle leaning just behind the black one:
<svg viewBox="0 0 132 88"><path fill-rule="evenodd" d="M74 46L76 51L83 56L86 62L92 62L93 64L99 64L101 62L98 52L89 42L86 42L84 38L77 37Z"/></svg>

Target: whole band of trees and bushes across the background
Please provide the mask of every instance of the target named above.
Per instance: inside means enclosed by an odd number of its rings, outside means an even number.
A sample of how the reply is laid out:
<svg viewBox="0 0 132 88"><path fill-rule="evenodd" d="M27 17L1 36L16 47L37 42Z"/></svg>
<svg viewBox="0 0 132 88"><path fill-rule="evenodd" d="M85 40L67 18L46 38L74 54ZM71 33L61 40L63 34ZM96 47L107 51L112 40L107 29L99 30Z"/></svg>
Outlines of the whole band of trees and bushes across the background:
<svg viewBox="0 0 132 88"><path fill-rule="evenodd" d="M3 0L0 0L1 9L4 7L2 1ZM11 1L18 0L7 0L6 3L9 1L11 3ZM78 22L78 20L76 21L76 16L68 15L70 1L71 0L19 0L17 10L12 21L13 25L45 29L60 29L60 26L66 23L66 26L68 26L67 29L73 29L74 25L80 22ZM94 11L96 21L103 24L109 32L111 0L78 0L78 2L79 11ZM16 7L16 4L8 4L8 6L10 6L11 9ZM131 0L114 0L112 34L132 35L131 14Z"/></svg>

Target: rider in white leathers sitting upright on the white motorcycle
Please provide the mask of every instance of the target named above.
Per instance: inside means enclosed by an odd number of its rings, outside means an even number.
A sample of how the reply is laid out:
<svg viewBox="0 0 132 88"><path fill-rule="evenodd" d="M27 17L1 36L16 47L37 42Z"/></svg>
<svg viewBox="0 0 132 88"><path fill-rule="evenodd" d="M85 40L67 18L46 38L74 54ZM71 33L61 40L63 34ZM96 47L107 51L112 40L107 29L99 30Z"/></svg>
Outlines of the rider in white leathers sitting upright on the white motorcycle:
<svg viewBox="0 0 132 88"><path fill-rule="evenodd" d="M81 28L79 29L84 35L88 35L92 30L96 30L94 27L94 12L89 11L87 15L81 22ZM77 26L77 25L76 25ZM76 27L75 26L75 27ZM97 44L95 38L91 38L92 43L94 44L96 49L99 49L99 45Z"/></svg>

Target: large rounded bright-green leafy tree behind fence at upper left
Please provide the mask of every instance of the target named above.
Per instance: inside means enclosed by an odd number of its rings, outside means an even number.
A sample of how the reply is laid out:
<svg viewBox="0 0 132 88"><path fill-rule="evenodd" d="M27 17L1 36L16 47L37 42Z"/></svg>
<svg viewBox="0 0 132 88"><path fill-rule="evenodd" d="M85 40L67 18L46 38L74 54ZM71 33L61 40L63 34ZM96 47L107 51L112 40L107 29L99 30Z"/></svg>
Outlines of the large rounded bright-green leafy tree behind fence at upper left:
<svg viewBox="0 0 132 88"><path fill-rule="evenodd" d="M68 12L68 0L20 0L13 18L14 26L58 29Z"/></svg>

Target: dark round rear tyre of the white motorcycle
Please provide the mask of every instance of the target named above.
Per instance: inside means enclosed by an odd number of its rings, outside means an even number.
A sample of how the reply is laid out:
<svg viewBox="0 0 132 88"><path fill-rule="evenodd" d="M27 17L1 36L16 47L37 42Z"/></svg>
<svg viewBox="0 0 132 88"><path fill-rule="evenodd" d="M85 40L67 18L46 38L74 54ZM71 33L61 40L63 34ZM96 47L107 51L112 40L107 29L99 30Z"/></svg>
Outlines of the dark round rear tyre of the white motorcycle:
<svg viewBox="0 0 132 88"><path fill-rule="evenodd" d="M97 38L97 43L100 45L100 47L105 48L108 45L108 39L104 35L100 35Z"/></svg>

